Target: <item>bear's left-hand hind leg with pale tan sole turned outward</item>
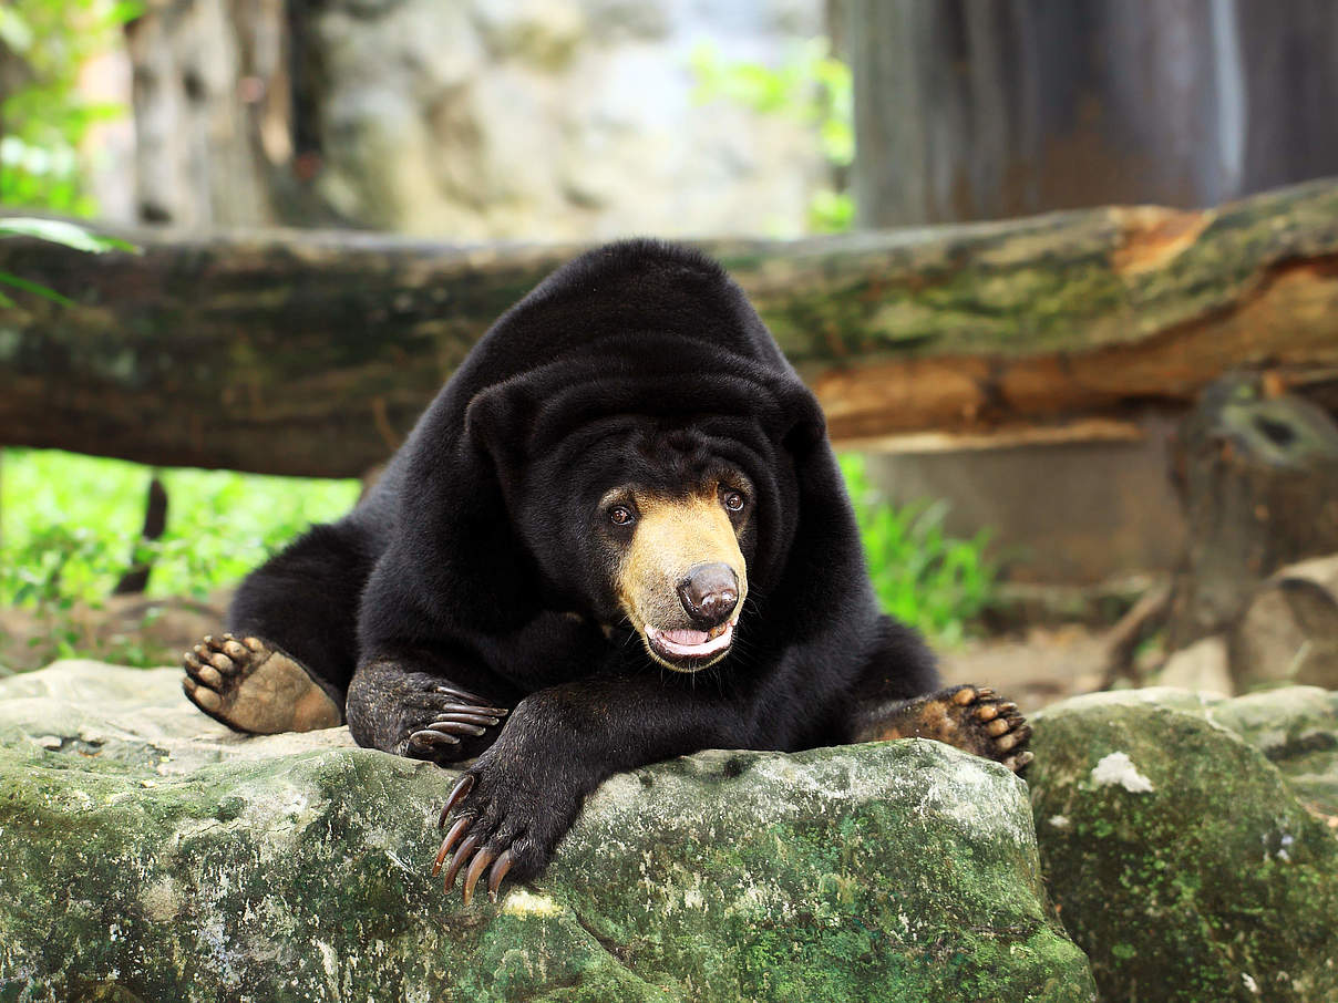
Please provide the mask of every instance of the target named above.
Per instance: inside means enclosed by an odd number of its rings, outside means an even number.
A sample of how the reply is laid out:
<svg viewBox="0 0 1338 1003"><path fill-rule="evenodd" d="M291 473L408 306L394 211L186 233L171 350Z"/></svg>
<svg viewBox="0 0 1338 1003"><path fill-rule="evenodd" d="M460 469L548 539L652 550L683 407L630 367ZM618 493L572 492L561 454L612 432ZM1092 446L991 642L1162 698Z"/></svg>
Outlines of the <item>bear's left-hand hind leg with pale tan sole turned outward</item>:
<svg viewBox="0 0 1338 1003"><path fill-rule="evenodd" d="M340 723L369 550L357 526L317 526L248 575L229 611L231 633L186 653L186 697L238 732Z"/></svg>

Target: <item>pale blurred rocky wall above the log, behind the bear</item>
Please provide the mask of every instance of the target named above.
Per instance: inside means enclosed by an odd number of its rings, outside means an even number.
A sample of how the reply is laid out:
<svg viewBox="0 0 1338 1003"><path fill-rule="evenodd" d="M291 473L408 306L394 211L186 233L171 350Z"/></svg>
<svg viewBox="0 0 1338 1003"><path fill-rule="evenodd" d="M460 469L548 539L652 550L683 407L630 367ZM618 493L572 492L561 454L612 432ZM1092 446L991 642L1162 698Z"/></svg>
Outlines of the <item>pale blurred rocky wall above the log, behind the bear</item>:
<svg viewBox="0 0 1338 1003"><path fill-rule="evenodd" d="M809 124L700 103L692 53L777 66L820 0L333 0L316 185L363 226L459 239L793 235L824 164Z"/></svg>

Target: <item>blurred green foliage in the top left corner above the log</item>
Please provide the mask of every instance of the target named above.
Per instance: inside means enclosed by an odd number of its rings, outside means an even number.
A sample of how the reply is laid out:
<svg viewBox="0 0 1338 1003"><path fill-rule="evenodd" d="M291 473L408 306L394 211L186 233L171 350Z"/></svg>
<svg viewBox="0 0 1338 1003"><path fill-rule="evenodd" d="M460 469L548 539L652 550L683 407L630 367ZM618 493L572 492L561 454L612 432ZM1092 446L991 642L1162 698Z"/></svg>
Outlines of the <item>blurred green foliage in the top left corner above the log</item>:
<svg viewBox="0 0 1338 1003"><path fill-rule="evenodd" d="M11 79L0 100L0 203L64 215L92 215L79 144L88 130L124 114L119 104L80 99L83 66L115 44L142 3L8 0L0 45ZM12 78L17 78L15 82Z"/></svg>

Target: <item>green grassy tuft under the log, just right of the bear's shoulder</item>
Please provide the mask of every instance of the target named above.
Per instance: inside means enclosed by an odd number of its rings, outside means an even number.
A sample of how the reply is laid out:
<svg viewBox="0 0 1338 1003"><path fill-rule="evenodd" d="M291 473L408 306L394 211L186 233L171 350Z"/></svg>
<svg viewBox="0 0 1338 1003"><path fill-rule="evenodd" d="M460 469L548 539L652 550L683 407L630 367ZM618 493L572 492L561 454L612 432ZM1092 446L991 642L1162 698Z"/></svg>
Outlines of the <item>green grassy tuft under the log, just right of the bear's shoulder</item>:
<svg viewBox="0 0 1338 1003"><path fill-rule="evenodd" d="M959 642L998 583L989 532L954 539L943 530L947 503L894 508L870 483L864 457L842 456L840 467L883 608L941 643Z"/></svg>

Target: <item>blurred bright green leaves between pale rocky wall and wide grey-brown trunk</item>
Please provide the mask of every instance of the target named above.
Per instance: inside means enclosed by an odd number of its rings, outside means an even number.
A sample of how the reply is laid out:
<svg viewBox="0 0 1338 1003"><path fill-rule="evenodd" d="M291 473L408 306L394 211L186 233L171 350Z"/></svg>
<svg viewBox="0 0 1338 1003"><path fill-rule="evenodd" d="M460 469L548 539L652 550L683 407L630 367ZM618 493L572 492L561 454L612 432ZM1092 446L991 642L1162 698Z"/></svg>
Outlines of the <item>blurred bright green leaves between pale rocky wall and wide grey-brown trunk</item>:
<svg viewBox="0 0 1338 1003"><path fill-rule="evenodd" d="M799 45L779 67L728 62L709 43L690 56L701 103L724 100L757 115L773 115L818 131L823 156L836 183L814 194L808 225L818 233L840 233L855 221L844 177L855 159L855 99L850 67L831 55L824 37Z"/></svg>

